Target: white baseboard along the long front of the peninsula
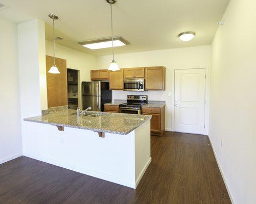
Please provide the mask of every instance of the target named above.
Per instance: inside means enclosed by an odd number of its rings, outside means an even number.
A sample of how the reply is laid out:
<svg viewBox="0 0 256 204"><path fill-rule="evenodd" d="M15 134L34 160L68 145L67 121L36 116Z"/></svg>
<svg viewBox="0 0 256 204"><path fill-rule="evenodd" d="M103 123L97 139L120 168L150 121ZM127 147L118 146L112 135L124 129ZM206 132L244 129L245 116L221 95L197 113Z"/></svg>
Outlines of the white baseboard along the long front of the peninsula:
<svg viewBox="0 0 256 204"><path fill-rule="evenodd" d="M85 169L85 168L82 168L82 167L79 167L79 166L75 166L75 165L72 165L72 164L67 164L67 163L64 163L64 162L59 162L59 161L52 160L52 159L49 159L49 158L35 156L35 155L27 154L27 153L24 153L24 156L35 159L35 160L39 160L41 162L46 162L46 163L49 163L49 164L53 164L55 166L59 166L59 167L65 168L65 169L69 169L69 170L72 170L72 171L83 173L83 174L86 174L86 175L89 175L89 176L97 177L98 179L102 179L102 180L105 180L105 181L108 181L108 182L113 182L113 183L116 183L116 184L120 184L120 185L123 185L123 186L134 188L134 189L136 188L136 183L135 182L133 183L133 182L129 182L129 181L126 181L126 180L122 180L118 177L114 177L114 176L107 175L107 174L100 173L100 172L96 172L96 171L91 171L91 170L88 170L88 169Z"/></svg>

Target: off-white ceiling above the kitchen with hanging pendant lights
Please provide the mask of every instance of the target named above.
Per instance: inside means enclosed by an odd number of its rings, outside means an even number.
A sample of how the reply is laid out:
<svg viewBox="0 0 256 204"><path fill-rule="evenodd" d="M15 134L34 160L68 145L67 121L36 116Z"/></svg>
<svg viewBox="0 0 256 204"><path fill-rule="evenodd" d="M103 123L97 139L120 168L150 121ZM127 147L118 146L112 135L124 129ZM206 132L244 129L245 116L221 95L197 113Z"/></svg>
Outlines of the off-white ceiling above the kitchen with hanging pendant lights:
<svg viewBox="0 0 256 204"><path fill-rule="evenodd" d="M117 0L113 5L114 36L131 44L116 47L115 53L168 49L211 44L229 0ZM58 41L82 52L101 56L111 48L90 50L77 42L111 36L110 5L105 0L0 0L0 17L16 23L39 18L45 21L46 39L52 39L52 20L56 14ZM194 31L195 38L180 41L177 35Z"/></svg>

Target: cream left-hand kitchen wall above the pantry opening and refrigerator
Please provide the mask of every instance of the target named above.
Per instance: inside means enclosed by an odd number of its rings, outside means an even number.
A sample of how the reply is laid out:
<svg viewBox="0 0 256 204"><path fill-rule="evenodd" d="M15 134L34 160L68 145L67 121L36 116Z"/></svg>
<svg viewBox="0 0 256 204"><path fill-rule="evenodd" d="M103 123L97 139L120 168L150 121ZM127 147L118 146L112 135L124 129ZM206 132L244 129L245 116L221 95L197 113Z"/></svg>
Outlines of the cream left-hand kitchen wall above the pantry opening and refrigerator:
<svg viewBox="0 0 256 204"><path fill-rule="evenodd" d="M53 42L46 40L46 55L53 56ZM67 68L80 70L80 81L90 81L90 70L96 68L95 56L82 53L78 50L56 44L55 56L65 59ZM81 84L78 89L79 106L81 107Z"/></svg>

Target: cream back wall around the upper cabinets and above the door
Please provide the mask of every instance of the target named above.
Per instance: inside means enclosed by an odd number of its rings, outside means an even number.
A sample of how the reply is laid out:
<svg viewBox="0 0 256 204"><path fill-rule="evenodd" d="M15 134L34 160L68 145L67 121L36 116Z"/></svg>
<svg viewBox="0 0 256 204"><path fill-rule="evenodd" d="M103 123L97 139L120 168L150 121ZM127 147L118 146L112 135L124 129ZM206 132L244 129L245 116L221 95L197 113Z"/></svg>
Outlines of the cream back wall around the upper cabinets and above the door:
<svg viewBox="0 0 256 204"><path fill-rule="evenodd" d="M173 70L180 68L206 68L207 72L211 64L211 45L115 55L115 60L123 68L145 66L166 67L166 91L147 91L141 93L113 91L113 99L126 99L126 96L129 94L145 94L148 95L149 100L165 100L166 130L172 131L173 94L169 96L169 93L173 92ZM111 56L98 57L97 67L102 69L107 68L110 62ZM208 118L207 111L206 118Z"/></svg>

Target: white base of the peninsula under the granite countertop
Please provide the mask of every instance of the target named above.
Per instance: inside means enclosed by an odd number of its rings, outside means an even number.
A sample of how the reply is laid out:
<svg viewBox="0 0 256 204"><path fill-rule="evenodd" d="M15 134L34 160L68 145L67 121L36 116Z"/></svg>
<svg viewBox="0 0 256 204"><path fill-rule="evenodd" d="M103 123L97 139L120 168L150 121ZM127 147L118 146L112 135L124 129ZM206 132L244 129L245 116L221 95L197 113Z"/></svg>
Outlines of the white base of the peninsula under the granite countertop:
<svg viewBox="0 0 256 204"><path fill-rule="evenodd" d="M105 133L105 138L32 122L24 133L24 156L134 189L151 162L150 120L127 135Z"/></svg>

